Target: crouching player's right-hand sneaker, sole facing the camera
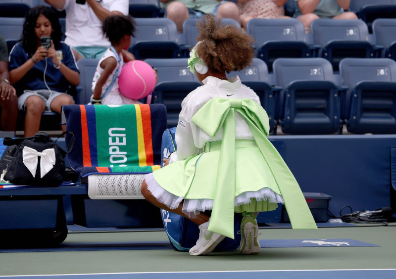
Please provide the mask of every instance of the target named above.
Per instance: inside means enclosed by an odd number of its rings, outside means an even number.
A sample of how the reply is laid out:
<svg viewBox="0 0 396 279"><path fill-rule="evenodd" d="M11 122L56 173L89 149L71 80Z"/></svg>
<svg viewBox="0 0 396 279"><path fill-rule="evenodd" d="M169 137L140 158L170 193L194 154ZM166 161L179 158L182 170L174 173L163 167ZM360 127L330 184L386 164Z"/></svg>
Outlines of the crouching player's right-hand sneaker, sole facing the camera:
<svg viewBox="0 0 396 279"><path fill-rule="evenodd" d="M242 254L258 254L258 252L260 252L260 243L257 239L257 221L254 214L245 214L241 222L242 239L239 250Z"/></svg>

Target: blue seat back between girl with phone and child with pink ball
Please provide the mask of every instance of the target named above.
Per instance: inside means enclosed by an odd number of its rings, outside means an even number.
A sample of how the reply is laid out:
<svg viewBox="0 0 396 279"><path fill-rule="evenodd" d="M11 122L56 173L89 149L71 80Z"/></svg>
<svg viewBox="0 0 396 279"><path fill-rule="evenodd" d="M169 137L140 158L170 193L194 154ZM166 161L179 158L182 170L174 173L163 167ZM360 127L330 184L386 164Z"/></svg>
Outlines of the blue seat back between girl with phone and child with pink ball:
<svg viewBox="0 0 396 279"><path fill-rule="evenodd" d="M98 66L99 59L82 58L77 61L80 71L80 84L77 87L76 104L88 104L91 99L92 80Z"/></svg>

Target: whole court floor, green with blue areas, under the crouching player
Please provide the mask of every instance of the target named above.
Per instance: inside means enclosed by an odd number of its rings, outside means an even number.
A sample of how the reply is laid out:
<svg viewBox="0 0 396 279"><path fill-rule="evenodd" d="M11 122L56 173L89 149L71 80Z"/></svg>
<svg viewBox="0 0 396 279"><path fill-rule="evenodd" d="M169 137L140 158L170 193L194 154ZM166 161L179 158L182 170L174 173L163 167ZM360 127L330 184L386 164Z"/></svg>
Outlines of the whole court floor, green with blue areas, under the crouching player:
<svg viewBox="0 0 396 279"><path fill-rule="evenodd" d="M396 223L292 230L260 227L261 252L190 256L163 230L70 228L56 248L0 249L0 278L396 278Z"/></svg>

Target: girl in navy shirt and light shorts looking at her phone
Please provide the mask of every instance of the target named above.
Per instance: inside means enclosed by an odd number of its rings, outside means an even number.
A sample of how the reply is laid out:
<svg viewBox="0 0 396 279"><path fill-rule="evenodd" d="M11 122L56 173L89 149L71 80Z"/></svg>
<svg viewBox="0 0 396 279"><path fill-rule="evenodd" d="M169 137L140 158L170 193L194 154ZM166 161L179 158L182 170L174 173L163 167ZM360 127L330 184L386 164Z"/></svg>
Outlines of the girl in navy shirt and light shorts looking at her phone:
<svg viewBox="0 0 396 279"><path fill-rule="evenodd" d="M51 37L48 49L41 45L42 37ZM80 83L80 76L73 53L61 38L55 12L40 5L27 13L20 42L11 50L10 82L15 86L19 109L26 110L25 137L39 131L46 109L60 113L62 105L74 103L69 93Z"/></svg>

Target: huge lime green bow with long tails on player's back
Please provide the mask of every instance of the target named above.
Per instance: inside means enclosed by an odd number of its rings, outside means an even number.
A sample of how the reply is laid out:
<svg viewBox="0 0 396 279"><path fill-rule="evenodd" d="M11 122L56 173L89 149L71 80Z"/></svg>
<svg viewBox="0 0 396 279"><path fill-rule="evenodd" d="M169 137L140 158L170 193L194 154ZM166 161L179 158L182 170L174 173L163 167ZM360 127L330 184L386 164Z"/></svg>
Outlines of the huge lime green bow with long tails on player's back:
<svg viewBox="0 0 396 279"><path fill-rule="evenodd" d="M235 112L247 121L263 159L269 165L281 190L293 228L316 229L316 224L296 179L278 151L267 139L269 119L265 110L248 98L216 97L206 102L192 118L192 121L210 137L217 135L223 128L216 193L208 230L234 238Z"/></svg>

